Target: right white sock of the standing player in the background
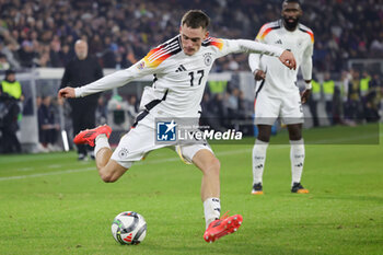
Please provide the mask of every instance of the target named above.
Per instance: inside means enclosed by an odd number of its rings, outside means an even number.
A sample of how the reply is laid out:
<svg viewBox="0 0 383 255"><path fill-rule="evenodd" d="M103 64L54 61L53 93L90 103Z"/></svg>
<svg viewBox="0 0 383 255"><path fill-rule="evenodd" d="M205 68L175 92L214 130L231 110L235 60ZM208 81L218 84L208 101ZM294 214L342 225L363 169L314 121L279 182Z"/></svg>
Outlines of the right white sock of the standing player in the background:
<svg viewBox="0 0 383 255"><path fill-rule="evenodd" d="M304 143L303 139L298 141L291 141L291 149L290 149L290 161L291 161L291 186L293 183L300 183L302 171L303 171L303 164L304 164Z"/></svg>

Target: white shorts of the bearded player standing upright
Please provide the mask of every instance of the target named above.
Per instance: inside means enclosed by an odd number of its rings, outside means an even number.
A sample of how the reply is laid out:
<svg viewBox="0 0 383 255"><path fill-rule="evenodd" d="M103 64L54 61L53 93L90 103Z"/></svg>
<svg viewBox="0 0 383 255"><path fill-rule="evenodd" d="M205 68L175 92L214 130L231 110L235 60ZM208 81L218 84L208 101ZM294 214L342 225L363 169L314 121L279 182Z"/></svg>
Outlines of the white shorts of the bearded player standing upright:
<svg viewBox="0 0 383 255"><path fill-rule="evenodd" d="M301 124L304 121L299 91L275 96L260 90L255 100L254 112L255 125L272 126L278 117L280 117L286 125Z"/></svg>

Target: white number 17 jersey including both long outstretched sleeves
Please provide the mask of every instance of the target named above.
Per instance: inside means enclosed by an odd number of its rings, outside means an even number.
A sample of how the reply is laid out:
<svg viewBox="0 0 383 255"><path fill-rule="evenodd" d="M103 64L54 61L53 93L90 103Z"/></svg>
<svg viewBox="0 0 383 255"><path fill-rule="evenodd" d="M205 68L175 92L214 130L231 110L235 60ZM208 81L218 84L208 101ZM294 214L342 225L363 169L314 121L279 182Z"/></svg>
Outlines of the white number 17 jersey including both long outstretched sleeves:
<svg viewBox="0 0 383 255"><path fill-rule="evenodd" d="M245 39L220 39L209 37L193 56L185 55L181 36L149 51L128 69L117 71L85 86L76 88L76 96L125 85L148 74L153 74L153 84L146 88L141 106L162 100L150 113L154 116L198 117L206 81L217 58L230 53L251 51L280 56L283 49ZM276 58L278 60L278 58ZM279 60L278 60L279 61Z"/></svg>

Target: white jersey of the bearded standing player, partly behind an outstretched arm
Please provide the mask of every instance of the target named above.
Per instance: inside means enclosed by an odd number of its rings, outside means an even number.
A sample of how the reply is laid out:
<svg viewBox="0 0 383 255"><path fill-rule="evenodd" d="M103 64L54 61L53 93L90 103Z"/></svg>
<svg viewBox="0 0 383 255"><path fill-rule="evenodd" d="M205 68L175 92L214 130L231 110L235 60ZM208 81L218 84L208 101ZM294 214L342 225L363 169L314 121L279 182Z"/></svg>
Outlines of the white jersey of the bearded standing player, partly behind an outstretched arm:
<svg viewBox="0 0 383 255"><path fill-rule="evenodd" d="M252 54L248 57L252 71L259 69L266 72L265 82L260 81L257 84L257 92L265 90L270 94L281 95L297 91L297 74L300 67L303 79L311 80L314 34L309 27L299 24L293 32L290 32L279 20L262 26L256 40L288 49L297 60L297 69L290 70L276 58Z"/></svg>

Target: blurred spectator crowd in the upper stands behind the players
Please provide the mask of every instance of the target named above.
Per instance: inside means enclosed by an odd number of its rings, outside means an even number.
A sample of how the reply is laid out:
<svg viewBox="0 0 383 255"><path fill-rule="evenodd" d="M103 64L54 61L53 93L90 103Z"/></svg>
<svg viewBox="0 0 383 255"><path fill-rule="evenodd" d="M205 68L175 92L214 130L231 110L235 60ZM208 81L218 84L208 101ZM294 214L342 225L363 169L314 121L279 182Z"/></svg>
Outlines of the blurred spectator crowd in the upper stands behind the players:
<svg viewBox="0 0 383 255"><path fill-rule="evenodd" d="M315 35L316 71L340 72L350 58L383 57L380 0L302 0ZM0 0L0 69L63 67L73 44L89 42L104 68L126 68L178 33L188 9L211 18L212 36L254 39L280 18L281 0ZM248 70L247 56L220 59L214 71Z"/></svg>

